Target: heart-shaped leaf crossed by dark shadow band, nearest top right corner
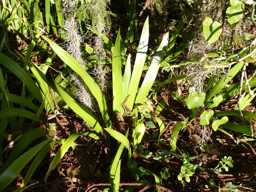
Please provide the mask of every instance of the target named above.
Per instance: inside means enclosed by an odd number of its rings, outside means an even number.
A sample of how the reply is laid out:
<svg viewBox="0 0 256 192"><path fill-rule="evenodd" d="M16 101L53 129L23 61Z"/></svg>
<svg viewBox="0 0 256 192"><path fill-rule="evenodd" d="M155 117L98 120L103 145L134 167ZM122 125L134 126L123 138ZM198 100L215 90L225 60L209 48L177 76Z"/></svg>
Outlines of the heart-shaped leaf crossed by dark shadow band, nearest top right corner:
<svg viewBox="0 0 256 192"><path fill-rule="evenodd" d="M236 6L230 6L227 8L226 15L228 22L232 25L237 23L243 16L244 13L244 4L240 3Z"/></svg>

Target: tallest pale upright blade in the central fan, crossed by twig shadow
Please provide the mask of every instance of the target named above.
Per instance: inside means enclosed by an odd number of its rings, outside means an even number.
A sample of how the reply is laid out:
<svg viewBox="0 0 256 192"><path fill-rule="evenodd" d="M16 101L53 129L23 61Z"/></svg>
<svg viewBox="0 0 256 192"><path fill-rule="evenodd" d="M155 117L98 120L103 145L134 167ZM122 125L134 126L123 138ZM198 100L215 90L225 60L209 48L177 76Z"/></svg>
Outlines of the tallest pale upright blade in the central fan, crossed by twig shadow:
<svg viewBox="0 0 256 192"><path fill-rule="evenodd" d="M133 108L134 100L137 94L138 85L141 79L142 69L145 63L146 55L147 55L147 46L148 46L148 36L149 36L149 29L148 29L148 17L144 23L140 44L138 46L138 51L136 54L136 59L134 63L133 73L131 77L131 81L129 84L128 93L130 97L126 101L126 106L130 109ZM143 100L144 101L144 100Z"/></svg>

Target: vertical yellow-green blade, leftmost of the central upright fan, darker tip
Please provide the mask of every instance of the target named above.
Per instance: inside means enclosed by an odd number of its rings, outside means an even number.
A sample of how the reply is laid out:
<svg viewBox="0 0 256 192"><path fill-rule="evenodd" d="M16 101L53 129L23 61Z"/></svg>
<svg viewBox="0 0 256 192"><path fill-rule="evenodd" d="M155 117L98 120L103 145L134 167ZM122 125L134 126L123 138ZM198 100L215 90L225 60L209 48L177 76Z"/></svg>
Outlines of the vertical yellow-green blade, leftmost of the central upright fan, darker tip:
<svg viewBox="0 0 256 192"><path fill-rule="evenodd" d="M113 89L113 111L119 112L122 103L123 82L122 63L120 56L120 29L118 31L112 59L112 89Z"/></svg>

